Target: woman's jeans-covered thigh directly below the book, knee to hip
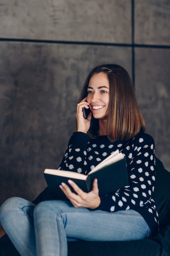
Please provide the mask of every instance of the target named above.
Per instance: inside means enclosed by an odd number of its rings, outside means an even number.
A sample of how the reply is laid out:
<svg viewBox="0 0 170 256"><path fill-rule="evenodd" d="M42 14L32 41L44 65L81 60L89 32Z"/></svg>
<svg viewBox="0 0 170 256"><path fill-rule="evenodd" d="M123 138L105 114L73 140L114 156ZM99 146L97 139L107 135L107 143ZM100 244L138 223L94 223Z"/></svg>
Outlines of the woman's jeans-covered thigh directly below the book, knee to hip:
<svg viewBox="0 0 170 256"><path fill-rule="evenodd" d="M135 240L148 237L150 230L144 218L134 210L106 212L75 208L68 201L39 203L35 211L46 211L62 218L68 237L82 240Z"/></svg>

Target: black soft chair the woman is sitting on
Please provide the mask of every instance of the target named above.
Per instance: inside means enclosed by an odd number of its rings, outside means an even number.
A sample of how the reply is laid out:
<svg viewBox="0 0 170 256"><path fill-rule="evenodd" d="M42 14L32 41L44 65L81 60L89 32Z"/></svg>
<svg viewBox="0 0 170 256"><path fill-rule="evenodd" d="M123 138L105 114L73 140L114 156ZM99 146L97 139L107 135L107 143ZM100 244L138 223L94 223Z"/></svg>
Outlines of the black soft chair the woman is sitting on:
<svg viewBox="0 0 170 256"><path fill-rule="evenodd" d="M68 243L68 256L170 256L170 173L156 159L156 181L153 198L159 213L160 231L146 240ZM35 203L49 196L45 189ZM0 256L20 256L7 235L0 238Z"/></svg>

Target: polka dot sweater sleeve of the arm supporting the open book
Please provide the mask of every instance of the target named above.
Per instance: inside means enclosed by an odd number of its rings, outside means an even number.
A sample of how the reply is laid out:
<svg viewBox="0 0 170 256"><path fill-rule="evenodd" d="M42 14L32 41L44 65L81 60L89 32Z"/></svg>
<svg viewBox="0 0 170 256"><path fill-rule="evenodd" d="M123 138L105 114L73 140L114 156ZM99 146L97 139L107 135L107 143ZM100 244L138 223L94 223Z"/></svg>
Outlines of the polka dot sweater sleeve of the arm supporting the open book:
<svg viewBox="0 0 170 256"><path fill-rule="evenodd" d="M144 206L154 190L155 183L155 145L150 135L138 137L126 147L126 162L129 186L117 193L101 196L98 209L120 211Z"/></svg>

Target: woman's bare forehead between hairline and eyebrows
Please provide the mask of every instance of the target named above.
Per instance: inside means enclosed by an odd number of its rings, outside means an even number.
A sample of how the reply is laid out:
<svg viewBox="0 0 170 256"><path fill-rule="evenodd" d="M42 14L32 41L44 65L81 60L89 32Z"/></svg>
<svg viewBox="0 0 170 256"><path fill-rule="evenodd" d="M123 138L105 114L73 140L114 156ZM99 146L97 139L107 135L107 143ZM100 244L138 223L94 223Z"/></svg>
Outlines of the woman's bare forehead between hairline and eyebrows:
<svg viewBox="0 0 170 256"><path fill-rule="evenodd" d="M89 80L89 87L101 87L101 86L105 86L107 88L109 88L109 80L107 77L107 74L100 72L98 74L94 74L90 80Z"/></svg>

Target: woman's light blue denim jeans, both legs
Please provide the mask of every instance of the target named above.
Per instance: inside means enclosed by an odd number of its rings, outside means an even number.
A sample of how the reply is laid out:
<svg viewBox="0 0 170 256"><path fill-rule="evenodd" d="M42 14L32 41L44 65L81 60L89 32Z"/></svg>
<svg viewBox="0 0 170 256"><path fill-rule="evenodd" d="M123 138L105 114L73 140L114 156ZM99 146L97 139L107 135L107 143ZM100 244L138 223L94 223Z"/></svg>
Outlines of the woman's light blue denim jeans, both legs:
<svg viewBox="0 0 170 256"><path fill-rule="evenodd" d="M9 198L0 207L0 222L22 256L67 256L72 240L116 241L148 238L150 229L134 210L90 211L52 200L37 206Z"/></svg>

